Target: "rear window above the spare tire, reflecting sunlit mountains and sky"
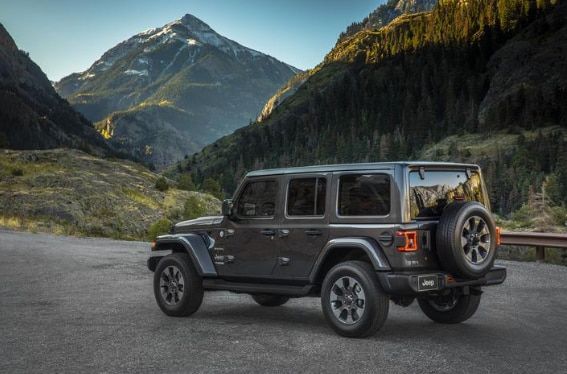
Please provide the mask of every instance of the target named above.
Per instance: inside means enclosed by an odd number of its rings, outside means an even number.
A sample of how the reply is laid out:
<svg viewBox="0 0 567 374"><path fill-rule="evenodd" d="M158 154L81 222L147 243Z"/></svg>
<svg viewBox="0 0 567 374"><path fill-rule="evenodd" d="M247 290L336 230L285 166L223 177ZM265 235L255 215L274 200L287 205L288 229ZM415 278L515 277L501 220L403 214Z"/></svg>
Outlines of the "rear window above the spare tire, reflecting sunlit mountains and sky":
<svg viewBox="0 0 567 374"><path fill-rule="evenodd" d="M486 205L482 179L476 172L465 171L410 172L410 212L412 219L437 218L453 201L478 201Z"/></svg>

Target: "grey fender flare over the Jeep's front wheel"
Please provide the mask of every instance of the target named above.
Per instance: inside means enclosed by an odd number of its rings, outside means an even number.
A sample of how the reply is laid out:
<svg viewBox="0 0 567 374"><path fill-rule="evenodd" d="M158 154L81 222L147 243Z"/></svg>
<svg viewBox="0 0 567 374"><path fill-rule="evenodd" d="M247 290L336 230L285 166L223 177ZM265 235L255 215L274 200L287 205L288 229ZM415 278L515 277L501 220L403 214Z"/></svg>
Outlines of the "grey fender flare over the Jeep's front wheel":
<svg viewBox="0 0 567 374"><path fill-rule="evenodd" d="M210 278L217 276L217 271L207 245L205 244L205 240L198 234L158 236L150 260L152 258L158 258L157 261L159 261L159 258L168 254L166 251L173 250L175 252L179 247L183 248L189 257L191 257L195 270L197 270L197 273L199 273L201 277Z"/></svg>

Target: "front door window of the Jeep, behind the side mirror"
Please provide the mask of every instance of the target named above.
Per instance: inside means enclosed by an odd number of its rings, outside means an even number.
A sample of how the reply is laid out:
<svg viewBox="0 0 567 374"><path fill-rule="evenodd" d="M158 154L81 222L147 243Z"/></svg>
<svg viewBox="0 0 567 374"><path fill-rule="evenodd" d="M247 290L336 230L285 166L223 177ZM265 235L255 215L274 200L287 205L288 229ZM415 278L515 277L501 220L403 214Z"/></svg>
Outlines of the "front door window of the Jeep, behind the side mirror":
<svg viewBox="0 0 567 374"><path fill-rule="evenodd" d="M270 218L276 211L277 183L273 180L250 182L237 203L237 214L245 218Z"/></svg>

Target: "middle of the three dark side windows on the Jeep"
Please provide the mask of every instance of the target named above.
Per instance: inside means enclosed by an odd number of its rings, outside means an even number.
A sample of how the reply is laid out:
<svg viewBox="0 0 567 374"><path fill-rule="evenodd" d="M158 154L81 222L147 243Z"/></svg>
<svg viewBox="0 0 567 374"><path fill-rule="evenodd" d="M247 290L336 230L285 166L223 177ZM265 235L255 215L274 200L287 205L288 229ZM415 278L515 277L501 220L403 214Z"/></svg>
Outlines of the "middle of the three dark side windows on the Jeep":
<svg viewBox="0 0 567 374"><path fill-rule="evenodd" d="M292 179L287 190L287 215L325 215L326 192L327 180L325 178Z"/></svg>

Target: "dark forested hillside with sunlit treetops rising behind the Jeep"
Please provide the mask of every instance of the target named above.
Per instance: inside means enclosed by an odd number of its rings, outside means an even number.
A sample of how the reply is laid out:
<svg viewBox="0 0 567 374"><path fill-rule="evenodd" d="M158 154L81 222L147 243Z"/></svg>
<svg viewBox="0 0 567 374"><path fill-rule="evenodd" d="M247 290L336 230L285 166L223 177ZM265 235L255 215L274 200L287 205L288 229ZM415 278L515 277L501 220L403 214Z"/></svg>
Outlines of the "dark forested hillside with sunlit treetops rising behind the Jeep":
<svg viewBox="0 0 567 374"><path fill-rule="evenodd" d="M263 122L172 173L216 178L230 194L246 171L264 167L466 160L485 168L501 214L544 181L553 203L566 203L565 56L565 4L443 1L338 43ZM464 141L469 134L495 143L475 147Z"/></svg>

